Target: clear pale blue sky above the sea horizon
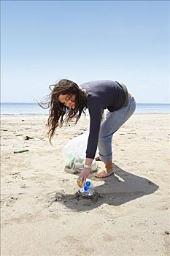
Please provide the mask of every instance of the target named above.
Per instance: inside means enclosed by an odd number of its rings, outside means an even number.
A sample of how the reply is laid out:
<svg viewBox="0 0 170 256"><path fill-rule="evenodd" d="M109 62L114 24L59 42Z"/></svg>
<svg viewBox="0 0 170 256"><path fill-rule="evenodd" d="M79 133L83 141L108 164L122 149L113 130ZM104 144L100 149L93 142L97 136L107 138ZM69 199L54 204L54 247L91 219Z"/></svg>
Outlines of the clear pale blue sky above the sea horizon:
<svg viewBox="0 0 170 256"><path fill-rule="evenodd" d="M62 78L168 103L169 1L1 1L1 102L40 100Z"/></svg>

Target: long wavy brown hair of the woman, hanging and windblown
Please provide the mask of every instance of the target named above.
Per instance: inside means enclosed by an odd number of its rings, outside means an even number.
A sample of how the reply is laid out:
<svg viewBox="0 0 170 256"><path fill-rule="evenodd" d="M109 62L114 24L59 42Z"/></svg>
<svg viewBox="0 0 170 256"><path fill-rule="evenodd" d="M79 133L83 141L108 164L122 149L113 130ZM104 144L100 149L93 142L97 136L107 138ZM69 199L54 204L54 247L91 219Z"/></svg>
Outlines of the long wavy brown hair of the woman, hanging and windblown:
<svg viewBox="0 0 170 256"><path fill-rule="evenodd" d="M77 124L81 114L85 113L85 109L87 108L87 94L76 83L67 79L62 79L58 83L50 85L49 88L51 89L51 93L45 97L44 101L39 103L39 106L50 108L50 116L47 120L49 128L47 135L51 143L57 127L63 127L63 123L68 125L71 120L74 121L74 124ZM60 94L75 94L75 108L68 108L59 102L58 97Z"/></svg>

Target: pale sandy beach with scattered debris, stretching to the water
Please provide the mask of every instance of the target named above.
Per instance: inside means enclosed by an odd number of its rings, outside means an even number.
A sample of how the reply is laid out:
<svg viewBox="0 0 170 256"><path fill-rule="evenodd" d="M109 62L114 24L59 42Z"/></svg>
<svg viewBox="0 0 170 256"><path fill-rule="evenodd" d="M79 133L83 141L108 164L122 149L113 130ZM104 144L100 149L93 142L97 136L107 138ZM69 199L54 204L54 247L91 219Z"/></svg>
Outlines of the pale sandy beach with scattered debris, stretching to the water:
<svg viewBox="0 0 170 256"><path fill-rule="evenodd" d="M134 114L115 133L115 175L90 174L92 199L61 154L88 118L51 146L47 116L1 116L1 256L170 255L169 114Z"/></svg>

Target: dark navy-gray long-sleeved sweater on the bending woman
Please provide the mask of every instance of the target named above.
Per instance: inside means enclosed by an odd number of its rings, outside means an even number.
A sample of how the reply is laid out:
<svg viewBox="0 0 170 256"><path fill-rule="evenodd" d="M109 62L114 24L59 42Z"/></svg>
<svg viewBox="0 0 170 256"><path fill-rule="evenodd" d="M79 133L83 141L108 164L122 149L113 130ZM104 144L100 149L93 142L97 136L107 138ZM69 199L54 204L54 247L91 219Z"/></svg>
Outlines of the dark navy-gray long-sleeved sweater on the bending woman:
<svg viewBox="0 0 170 256"><path fill-rule="evenodd" d="M90 132L86 157L94 159L101 124L101 113L104 109L110 112L120 109L125 102L125 92L119 83L112 80L90 81L80 85L88 91L88 111L90 114Z"/></svg>

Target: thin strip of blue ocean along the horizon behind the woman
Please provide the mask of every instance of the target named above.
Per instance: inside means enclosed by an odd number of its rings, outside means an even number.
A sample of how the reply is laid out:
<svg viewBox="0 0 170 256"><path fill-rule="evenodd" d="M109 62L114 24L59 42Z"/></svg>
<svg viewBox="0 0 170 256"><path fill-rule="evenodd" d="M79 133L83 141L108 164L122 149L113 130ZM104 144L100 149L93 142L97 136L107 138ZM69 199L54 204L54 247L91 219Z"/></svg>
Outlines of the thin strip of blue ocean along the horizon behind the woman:
<svg viewBox="0 0 170 256"><path fill-rule="evenodd" d="M47 115L49 110L36 103L1 102L1 115ZM135 113L169 113L170 104L136 103Z"/></svg>

